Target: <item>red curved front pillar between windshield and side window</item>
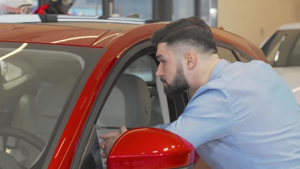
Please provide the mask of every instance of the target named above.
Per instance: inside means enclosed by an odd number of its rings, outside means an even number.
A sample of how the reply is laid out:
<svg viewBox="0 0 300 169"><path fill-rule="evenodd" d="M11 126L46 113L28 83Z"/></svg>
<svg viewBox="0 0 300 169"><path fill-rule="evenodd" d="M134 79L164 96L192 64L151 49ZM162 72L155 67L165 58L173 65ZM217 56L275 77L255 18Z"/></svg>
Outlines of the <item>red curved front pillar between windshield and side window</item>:
<svg viewBox="0 0 300 169"><path fill-rule="evenodd" d="M129 49L139 41L141 42L149 39L152 33L157 29L157 26L162 27L163 25L164 24L160 23L151 24L149 25L150 27L147 29L147 31L145 31L143 26L138 26L137 28L129 29L127 31L124 31L123 33L119 33L118 35L112 35L112 37L109 37L111 39L111 42L107 44L107 50L97 63L94 71L92 72L86 85L84 86L83 91L79 96L70 120L68 121L59 144L54 152L54 156L49 165L49 169L57 168L57 166L63 169L70 168L77 146L76 143L80 138L81 131L89 115L89 111L93 106L93 104L89 103L94 103L97 96L97 94L95 93L99 92L114 63L127 49ZM98 40L98 42L99 41L100 40ZM113 47L113 45L117 47ZM93 47L105 46L100 46L99 43L96 42ZM78 117L81 117L81 119ZM69 144L67 146L63 146L65 142Z"/></svg>

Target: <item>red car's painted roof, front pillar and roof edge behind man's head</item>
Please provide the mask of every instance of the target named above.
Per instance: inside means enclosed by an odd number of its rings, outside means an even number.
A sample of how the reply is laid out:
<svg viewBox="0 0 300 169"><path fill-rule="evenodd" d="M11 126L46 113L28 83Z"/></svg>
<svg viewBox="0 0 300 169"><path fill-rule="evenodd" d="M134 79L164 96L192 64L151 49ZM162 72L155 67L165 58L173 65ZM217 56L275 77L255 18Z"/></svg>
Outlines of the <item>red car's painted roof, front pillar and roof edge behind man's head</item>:
<svg viewBox="0 0 300 169"><path fill-rule="evenodd" d="M79 138L97 94L118 58L138 42L149 40L154 31L166 24L138 25L122 32L37 24L1 24L0 41L3 42L107 47L76 101L73 112L52 156L49 169L71 167ZM267 62L264 54L261 55L260 52L255 50L256 46L253 43L216 28L212 28L212 32L216 40L236 46L253 56L253 58Z"/></svg>

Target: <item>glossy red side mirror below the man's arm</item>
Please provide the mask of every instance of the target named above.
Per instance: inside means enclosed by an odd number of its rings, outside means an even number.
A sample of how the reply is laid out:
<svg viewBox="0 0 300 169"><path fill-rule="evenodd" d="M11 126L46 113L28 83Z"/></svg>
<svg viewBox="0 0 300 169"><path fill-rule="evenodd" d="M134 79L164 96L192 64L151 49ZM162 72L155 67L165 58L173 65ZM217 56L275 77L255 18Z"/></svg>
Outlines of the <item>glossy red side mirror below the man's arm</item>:
<svg viewBox="0 0 300 169"><path fill-rule="evenodd" d="M164 129L135 128L114 143L107 158L108 169L158 169L192 167L194 147Z"/></svg>

